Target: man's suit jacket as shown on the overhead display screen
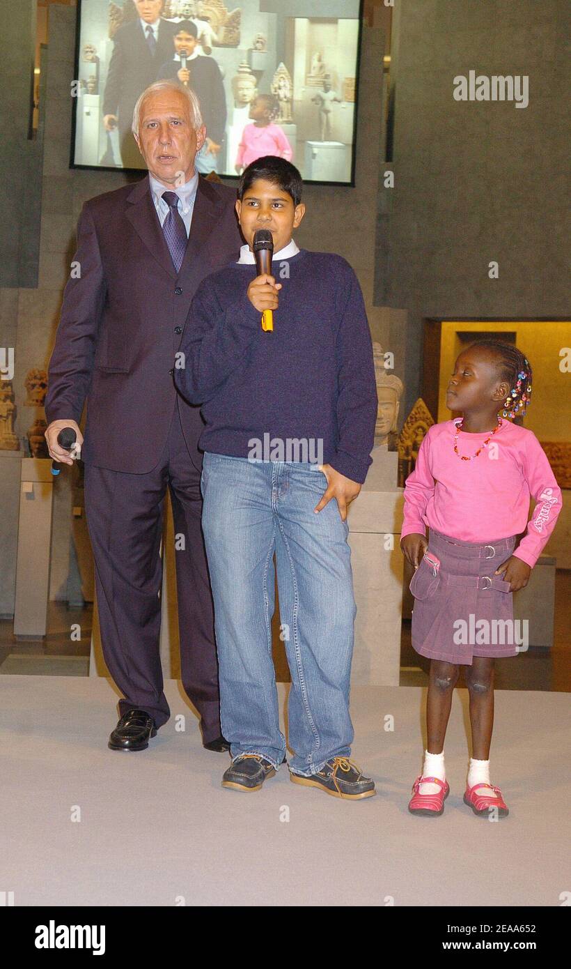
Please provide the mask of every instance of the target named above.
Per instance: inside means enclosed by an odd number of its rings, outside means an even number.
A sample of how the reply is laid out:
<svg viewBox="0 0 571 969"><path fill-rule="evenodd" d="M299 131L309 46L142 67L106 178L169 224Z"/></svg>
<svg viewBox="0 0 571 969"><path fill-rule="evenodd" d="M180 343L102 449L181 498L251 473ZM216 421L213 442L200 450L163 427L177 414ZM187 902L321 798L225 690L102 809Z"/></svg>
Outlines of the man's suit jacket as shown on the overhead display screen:
<svg viewBox="0 0 571 969"><path fill-rule="evenodd" d="M122 24L115 34L103 112L104 115L117 115L123 136L131 130L137 98L157 79L161 64L173 57L175 34L176 24L161 20L154 54L151 54L138 17L132 23Z"/></svg>

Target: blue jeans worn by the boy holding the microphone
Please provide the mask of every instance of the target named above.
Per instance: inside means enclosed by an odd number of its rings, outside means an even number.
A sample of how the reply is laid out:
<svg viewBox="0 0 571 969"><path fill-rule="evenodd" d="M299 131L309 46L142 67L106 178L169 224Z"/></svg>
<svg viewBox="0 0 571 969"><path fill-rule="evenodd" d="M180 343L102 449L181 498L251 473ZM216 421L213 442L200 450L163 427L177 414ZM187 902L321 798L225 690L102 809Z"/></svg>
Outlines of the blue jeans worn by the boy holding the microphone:
<svg viewBox="0 0 571 969"><path fill-rule="evenodd" d="M348 526L335 499L317 515L327 479L315 464L205 453L202 528L214 596L221 723L232 759L251 752L278 768L280 731L270 623L274 562L291 672L290 768L316 773L348 757L353 597Z"/></svg>

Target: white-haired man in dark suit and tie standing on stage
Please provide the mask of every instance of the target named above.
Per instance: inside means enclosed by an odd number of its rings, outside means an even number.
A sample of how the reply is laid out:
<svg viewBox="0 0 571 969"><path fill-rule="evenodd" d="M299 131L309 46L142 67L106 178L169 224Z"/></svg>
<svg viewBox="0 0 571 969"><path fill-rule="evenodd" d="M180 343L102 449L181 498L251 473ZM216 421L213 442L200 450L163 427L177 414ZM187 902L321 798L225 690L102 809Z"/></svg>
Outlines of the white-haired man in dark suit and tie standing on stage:
<svg viewBox="0 0 571 969"><path fill-rule="evenodd" d="M200 526L203 423L172 375L198 283L238 257L242 238L235 192L195 172L206 135L195 94L178 82L152 84L133 125L149 174L83 206L78 278L67 284L49 363L45 437L51 456L68 464L57 443L61 428L74 427L83 445L105 662L125 698L109 746L142 750L169 716L159 652L168 487L181 678L200 714L204 746L225 750Z"/></svg>

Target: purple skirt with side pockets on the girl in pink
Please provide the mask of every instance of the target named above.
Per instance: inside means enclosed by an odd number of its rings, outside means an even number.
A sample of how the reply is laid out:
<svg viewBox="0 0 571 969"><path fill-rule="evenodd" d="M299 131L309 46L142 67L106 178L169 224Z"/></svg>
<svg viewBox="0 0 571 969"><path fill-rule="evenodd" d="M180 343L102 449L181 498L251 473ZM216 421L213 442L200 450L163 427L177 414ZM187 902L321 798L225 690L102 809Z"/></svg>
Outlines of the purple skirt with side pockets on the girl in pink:
<svg viewBox="0 0 571 969"><path fill-rule="evenodd" d="M431 529L427 552L410 582L417 653L469 666L474 656L515 656L522 649L510 583L494 575L515 546L516 537L474 545Z"/></svg>

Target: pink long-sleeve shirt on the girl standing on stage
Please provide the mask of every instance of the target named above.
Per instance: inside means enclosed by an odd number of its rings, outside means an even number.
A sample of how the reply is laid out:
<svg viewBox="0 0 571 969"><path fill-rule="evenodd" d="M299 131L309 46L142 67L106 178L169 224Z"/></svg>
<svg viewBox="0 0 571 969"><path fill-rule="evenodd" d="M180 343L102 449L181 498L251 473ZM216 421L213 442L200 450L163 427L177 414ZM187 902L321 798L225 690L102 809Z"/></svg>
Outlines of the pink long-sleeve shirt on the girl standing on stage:
<svg viewBox="0 0 571 969"><path fill-rule="evenodd" d="M455 431L454 421L435 424L420 446L406 479L403 537L425 535L426 525L460 542L520 535L532 497L533 514L514 551L532 568L561 510L561 491L543 448L532 431L504 421L487 448L462 461L454 452ZM489 436L461 431L458 450L469 456Z"/></svg>

